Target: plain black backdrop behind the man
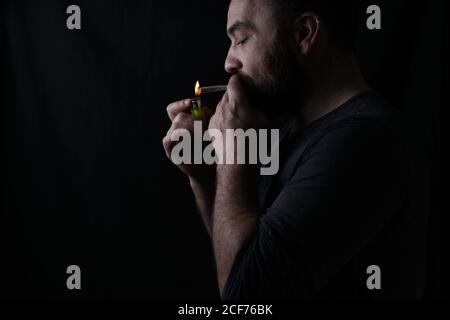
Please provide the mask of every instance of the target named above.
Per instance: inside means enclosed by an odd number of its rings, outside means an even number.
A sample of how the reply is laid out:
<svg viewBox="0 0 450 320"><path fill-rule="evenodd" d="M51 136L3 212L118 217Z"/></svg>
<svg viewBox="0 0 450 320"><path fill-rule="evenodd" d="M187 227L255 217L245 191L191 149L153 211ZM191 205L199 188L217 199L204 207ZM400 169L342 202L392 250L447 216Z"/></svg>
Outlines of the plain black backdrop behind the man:
<svg viewBox="0 0 450 320"><path fill-rule="evenodd" d="M429 192L426 296L442 296L437 202L444 2L374 1L357 52L411 123ZM66 8L82 30L66 28ZM186 178L165 158L165 106L225 83L227 1L2 0L1 297L218 298ZM66 288L66 268L82 290Z"/></svg>

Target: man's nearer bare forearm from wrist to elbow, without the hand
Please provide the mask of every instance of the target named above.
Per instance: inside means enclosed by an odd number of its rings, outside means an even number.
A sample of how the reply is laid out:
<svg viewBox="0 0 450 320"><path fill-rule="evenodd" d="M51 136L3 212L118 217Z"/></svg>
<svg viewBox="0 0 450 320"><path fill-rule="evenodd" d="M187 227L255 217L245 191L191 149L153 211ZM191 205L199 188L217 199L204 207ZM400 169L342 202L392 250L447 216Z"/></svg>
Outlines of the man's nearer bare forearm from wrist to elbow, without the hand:
<svg viewBox="0 0 450 320"><path fill-rule="evenodd" d="M255 179L248 166L217 167L212 240L221 293L237 254L258 226Z"/></svg>

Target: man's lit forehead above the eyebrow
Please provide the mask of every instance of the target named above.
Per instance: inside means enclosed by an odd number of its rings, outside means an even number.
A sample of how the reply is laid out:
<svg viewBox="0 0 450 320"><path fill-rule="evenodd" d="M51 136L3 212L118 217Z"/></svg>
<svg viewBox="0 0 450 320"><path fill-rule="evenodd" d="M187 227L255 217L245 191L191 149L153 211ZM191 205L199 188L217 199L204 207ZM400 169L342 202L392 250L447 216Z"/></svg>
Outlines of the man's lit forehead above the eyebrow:
<svg viewBox="0 0 450 320"><path fill-rule="evenodd" d="M227 28L236 22L250 23L256 28L273 22L268 0L231 0Z"/></svg>

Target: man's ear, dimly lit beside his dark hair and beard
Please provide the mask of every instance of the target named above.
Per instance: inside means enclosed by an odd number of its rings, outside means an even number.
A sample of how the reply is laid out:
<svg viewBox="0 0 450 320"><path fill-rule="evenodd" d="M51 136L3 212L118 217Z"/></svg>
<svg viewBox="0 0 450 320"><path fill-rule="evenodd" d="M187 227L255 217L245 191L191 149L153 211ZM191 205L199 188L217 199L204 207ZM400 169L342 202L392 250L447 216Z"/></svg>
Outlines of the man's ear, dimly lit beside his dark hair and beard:
<svg viewBox="0 0 450 320"><path fill-rule="evenodd" d="M316 14L312 12L303 13L295 20L294 39L301 54L308 54L317 42L320 21Z"/></svg>

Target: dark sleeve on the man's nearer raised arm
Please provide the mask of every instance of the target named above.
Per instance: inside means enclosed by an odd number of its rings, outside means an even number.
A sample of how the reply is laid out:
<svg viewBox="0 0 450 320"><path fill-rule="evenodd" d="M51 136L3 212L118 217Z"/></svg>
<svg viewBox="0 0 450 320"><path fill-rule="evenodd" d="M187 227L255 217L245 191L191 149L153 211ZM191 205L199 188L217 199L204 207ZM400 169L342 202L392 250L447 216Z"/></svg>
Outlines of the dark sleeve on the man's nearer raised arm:
<svg viewBox="0 0 450 320"><path fill-rule="evenodd" d="M324 130L241 248L222 297L314 296L400 210L402 161L401 139L381 120Z"/></svg>

